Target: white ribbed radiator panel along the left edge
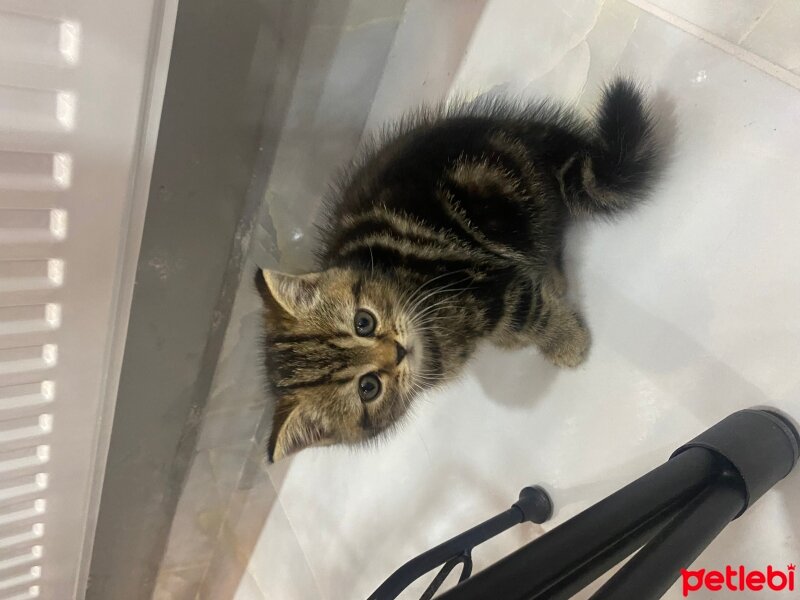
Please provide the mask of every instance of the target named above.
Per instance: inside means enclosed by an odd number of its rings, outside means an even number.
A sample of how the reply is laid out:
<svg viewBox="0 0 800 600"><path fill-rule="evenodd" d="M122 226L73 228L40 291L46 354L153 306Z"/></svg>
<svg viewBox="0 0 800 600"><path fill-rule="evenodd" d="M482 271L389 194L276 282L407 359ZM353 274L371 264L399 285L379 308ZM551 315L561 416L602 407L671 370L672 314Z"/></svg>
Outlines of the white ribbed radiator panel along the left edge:
<svg viewBox="0 0 800 600"><path fill-rule="evenodd" d="M153 10L0 0L0 600L78 594Z"/></svg>

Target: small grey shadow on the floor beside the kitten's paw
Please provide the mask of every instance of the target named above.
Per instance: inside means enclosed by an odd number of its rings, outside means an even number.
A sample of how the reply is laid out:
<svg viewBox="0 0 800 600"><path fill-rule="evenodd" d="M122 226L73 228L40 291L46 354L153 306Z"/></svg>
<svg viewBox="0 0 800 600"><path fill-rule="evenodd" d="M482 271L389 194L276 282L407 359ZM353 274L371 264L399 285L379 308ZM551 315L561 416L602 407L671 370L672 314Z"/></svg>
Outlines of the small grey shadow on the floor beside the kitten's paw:
<svg viewBox="0 0 800 600"><path fill-rule="evenodd" d="M514 408L527 408L543 397L559 369L535 349L501 350L483 346L469 369L488 398Z"/></svg>

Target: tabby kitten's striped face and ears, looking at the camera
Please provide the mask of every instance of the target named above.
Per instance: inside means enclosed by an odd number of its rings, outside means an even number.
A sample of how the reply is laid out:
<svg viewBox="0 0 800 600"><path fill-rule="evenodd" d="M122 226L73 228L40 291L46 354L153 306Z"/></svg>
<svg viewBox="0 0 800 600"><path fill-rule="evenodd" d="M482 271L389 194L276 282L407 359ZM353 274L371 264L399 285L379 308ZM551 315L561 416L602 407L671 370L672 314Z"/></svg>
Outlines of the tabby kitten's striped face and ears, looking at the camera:
<svg viewBox="0 0 800 600"><path fill-rule="evenodd" d="M426 342L393 279L349 269L259 270L267 379L276 408L267 453L370 440L427 387Z"/></svg>

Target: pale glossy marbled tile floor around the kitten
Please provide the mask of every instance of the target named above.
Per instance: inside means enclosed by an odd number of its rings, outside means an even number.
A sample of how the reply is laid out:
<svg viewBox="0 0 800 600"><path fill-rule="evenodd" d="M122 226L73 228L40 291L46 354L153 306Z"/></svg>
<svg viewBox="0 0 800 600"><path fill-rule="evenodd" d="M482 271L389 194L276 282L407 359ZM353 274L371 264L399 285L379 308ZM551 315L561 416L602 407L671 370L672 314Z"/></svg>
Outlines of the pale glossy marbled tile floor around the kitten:
<svg viewBox="0 0 800 600"><path fill-rule="evenodd" d="M284 132L267 199L286 268L307 265L316 198L364 123L420 99L491 90L552 94L588 109L612 74L635 74L663 130L675 132L674 159L647 206L571 232L573 293L594 335L585 366L560 372L533 350L485 348L462 381L420 403L381 448L307 451L245 468L203 563L205 587L192 588L201 598L225 600L237 584L236 600L366 598L406 559L506 508L524 485L544 484L558 507L552 522L481 547L480 568L738 408L770 404L800 416L797 0L409 0L399 26L402 3L378 4L327 39L325 64L312 60L322 51L312 43L325 40L306 44L301 75L314 77L296 86L298 118ZM348 10L345 23L355 18ZM353 90L361 90L357 106ZM300 118L309 115L313 128ZM320 140L327 146L315 147ZM251 358L257 308L250 297L239 302L237 365ZM220 414L237 381L249 386L254 373L229 380ZM254 389L245 395L258 407ZM257 411L237 414L251 414L241 418L252 424ZM698 564L798 561L795 473ZM164 586L180 588L189 567L165 569ZM667 595L680 597L677 589Z"/></svg>

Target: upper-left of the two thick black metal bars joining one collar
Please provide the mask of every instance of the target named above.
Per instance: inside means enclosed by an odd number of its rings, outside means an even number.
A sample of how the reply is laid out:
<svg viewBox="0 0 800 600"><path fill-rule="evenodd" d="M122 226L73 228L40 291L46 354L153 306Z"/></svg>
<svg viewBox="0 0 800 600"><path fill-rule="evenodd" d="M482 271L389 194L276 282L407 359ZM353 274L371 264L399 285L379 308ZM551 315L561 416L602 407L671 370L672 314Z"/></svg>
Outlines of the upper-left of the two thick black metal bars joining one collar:
<svg viewBox="0 0 800 600"><path fill-rule="evenodd" d="M638 548L720 473L690 448L446 592L441 600L569 597ZM626 552L627 551L627 552Z"/></svg>

